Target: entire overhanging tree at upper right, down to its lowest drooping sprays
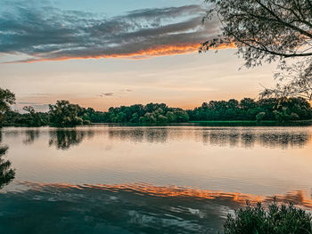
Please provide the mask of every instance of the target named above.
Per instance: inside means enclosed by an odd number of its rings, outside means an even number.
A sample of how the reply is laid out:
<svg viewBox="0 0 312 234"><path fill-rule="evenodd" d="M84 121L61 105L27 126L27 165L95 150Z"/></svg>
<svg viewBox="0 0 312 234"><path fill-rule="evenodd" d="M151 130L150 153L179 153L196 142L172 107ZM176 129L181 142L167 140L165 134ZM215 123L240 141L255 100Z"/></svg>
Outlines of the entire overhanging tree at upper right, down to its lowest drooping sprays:
<svg viewBox="0 0 312 234"><path fill-rule="evenodd" d="M205 0L204 21L220 21L221 34L201 44L200 52L220 45L238 49L246 67L280 61L277 85L261 97L303 97L312 101L311 0ZM296 58L290 64L289 58Z"/></svg>

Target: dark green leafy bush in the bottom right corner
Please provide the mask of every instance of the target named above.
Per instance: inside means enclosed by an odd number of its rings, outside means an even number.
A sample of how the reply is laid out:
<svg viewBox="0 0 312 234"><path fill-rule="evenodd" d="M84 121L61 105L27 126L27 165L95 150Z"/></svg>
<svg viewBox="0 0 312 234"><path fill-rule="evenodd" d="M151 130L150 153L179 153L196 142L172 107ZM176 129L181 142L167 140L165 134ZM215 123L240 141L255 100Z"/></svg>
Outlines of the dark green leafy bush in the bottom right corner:
<svg viewBox="0 0 312 234"><path fill-rule="evenodd" d="M228 214L225 234L311 234L311 214L290 205L274 201L265 209L261 203Z"/></svg>

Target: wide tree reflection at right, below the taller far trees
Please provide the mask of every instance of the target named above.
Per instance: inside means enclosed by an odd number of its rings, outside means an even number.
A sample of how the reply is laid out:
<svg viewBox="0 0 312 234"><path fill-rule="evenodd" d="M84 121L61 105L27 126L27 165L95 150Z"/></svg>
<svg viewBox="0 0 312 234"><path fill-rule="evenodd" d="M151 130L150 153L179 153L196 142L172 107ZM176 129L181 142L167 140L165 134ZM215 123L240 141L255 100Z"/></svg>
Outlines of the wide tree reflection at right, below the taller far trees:
<svg viewBox="0 0 312 234"><path fill-rule="evenodd" d="M202 132L202 141L211 145L254 147L255 143L270 148L303 147L311 140L307 132L252 132L209 130Z"/></svg>

